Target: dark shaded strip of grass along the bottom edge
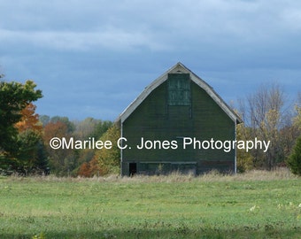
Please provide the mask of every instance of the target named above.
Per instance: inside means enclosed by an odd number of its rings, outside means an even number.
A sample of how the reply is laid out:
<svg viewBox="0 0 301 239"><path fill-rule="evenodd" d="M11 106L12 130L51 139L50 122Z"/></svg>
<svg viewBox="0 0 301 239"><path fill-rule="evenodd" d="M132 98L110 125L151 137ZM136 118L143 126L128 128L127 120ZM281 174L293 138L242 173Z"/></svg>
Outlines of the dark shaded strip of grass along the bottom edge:
<svg viewBox="0 0 301 239"><path fill-rule="evenodd" d="M254 229L251 227L244 227L238 230L221 230L221 229L205 229L205 230L191 230L187 228L179 229L131 229L131 230L115 230L106 229L103 231L75 231L67 230L64 232L54 232L47 230L44 233L37 235L5 235L0 232L0 238L16 238L16 239L49 239L49 238L208 238L208 239L228 239L228 238L300 238L301 227L293 229Z"/></svg>

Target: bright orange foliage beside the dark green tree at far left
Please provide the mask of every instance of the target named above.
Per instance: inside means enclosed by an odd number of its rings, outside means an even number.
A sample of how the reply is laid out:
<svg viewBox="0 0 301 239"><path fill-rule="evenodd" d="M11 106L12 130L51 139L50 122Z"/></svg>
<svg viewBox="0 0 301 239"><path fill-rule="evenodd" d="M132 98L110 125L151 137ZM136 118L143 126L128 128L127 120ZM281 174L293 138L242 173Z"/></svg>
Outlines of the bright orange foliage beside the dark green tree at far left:
<svg viewBox="0 0 301 239"><path fill-rule="evenodd" d="M35 113L35 108L35 104L29 103L21 111L22 118L18 123L15 124L15 127L18 128L19 132L24 132L27 129L32 129L39 133L42 132L42 125L39 122L39 115Z"/></svg>

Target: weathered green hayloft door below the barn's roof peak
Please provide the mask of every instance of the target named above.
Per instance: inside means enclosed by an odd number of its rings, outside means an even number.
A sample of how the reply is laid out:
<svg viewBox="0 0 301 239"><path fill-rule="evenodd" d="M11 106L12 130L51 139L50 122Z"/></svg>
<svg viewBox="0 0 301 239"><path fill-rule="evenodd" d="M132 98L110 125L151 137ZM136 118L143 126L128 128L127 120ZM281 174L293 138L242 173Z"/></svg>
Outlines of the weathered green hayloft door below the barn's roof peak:
<svg viewBox="0 0 301 239"><path fill-rule="evenodd" d="M168 105L190 105L189 73L168 74Z"/></svg>

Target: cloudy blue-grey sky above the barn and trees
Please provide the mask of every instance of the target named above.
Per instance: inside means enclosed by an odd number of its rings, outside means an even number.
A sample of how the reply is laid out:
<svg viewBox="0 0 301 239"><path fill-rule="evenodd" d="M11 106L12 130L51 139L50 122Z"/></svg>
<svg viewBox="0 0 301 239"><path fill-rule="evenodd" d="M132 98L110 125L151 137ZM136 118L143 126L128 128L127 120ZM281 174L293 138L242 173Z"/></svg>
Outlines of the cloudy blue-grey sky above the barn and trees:
<svg viewBox="0 0 301 239"><path fill-rule="evenodd" d="M228 104L301 91L301 1L0 0L0 73L33 80L40 115L115 120L177 62Z"/></svg>

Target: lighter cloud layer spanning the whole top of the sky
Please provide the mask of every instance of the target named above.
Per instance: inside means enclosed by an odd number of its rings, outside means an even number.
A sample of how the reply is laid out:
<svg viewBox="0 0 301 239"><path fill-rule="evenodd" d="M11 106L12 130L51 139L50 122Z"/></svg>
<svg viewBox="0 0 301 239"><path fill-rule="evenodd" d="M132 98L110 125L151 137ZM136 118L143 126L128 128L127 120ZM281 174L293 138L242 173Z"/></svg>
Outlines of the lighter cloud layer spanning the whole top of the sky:
<svg viewBox="0 0 301 239"><path fill-rule="evenodd" d="M4 13L0 40L58 50L263 45L298 35L300 6L296 1L274 1L273 7L266 1L29 1L16 4L14 14Z"/></svg>

